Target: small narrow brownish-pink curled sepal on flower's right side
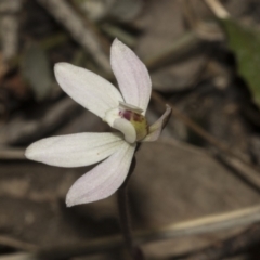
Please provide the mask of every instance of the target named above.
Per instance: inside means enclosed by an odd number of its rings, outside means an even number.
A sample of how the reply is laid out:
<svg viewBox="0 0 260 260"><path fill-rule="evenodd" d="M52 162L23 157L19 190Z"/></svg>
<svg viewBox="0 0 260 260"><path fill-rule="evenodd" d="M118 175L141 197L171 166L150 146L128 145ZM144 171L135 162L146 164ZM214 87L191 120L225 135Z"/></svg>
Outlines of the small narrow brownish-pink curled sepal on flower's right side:
<svg viewBox="0 0 260 260"><path fill-rule="evenodd" d="M171 107L169 105L166 105L166 112L155 123L153 123L150 127L148 129L150 133L142 140L142 142L156 141L159 138L167 120L169 119L170 114L171 114Z"/></svg>

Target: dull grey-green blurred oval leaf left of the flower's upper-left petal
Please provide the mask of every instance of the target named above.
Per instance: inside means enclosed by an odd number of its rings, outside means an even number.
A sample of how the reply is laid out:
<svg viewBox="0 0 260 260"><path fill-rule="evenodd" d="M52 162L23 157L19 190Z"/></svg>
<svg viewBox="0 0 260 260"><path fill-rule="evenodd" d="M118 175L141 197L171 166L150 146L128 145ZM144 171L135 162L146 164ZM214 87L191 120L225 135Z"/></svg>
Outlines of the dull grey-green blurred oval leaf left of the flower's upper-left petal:
<svg viewBox="0 0 260 260"><path fill-rule="evenodd" d="M24 52L22 76L30 84L38 101L48 98L52 87L52 73L46 52L37 43L31 43Z"/></svg>

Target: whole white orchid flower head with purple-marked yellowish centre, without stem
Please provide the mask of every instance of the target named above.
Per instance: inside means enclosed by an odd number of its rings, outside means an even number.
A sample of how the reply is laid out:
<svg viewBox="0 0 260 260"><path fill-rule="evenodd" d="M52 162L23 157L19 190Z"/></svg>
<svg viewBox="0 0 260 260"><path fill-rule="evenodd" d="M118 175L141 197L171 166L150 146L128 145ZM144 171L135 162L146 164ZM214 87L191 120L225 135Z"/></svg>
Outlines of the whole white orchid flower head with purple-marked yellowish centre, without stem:
<svg viewBox="0 0 260 260"><path fill-rule="evenodd" d="M123 183L136 142L158 139L171 109L147 127L144 117L152 91L145 65L115 39L110 63L120 92L99 75L68 63L57 63L55 77L62 89L80 105L119 132L75 133L42 139L25 152L29 159L58 167L89 166L103 160L79 178L66 196L67 206L108 197Z"/></svg>

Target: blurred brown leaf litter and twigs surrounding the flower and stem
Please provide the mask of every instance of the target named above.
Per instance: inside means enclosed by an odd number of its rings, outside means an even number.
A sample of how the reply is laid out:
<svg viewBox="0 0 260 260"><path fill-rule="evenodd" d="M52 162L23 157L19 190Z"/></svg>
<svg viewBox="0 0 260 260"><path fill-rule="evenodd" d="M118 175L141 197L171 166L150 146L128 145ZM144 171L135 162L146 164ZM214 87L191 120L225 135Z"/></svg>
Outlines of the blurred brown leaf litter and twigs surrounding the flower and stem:
<svg viewBox="0 0 260 260"><path fill-rule="evenodd" d="M65 206L91 167L24 157L44 136L109 131L61 90L53 65L116 84L116 37L151 73L148 122L166 103L173 109L159 141L136 154L135 242L152 260L260 259L260 2L1 0L0 260L129 259L115 195Z"/></svg>

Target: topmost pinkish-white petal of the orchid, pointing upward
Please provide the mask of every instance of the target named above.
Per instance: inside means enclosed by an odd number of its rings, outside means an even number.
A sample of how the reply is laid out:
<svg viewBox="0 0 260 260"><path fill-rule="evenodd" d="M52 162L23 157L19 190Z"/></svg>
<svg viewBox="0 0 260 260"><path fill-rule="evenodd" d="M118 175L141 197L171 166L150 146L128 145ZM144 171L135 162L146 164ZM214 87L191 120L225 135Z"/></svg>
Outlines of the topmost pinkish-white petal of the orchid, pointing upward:
<svg viewBox="0 0 260 260"><path fill-rule="evenodd" d="M125 101L142 108L145 114L152 90L145 65L131 49L117 39L112 44L110 63Z"/></svg>

